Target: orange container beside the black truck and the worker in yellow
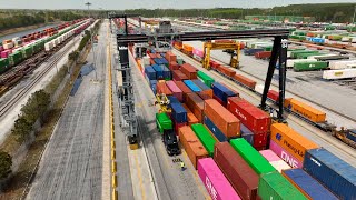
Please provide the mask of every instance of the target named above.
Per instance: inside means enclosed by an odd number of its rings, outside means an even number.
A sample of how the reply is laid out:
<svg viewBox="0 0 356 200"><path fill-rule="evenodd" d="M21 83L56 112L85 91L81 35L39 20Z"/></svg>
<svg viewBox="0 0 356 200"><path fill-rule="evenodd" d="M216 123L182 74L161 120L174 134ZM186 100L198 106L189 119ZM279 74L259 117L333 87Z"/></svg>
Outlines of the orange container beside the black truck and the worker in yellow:
<svg viewBox="0 0 356 200"><path fill-rule="evenodd" d="M202 143L190 127L181 127L178 129L178 132L182 147L185 148L192 166L197 169L198 160L208 158L208 151L204 148Z"/></svg>

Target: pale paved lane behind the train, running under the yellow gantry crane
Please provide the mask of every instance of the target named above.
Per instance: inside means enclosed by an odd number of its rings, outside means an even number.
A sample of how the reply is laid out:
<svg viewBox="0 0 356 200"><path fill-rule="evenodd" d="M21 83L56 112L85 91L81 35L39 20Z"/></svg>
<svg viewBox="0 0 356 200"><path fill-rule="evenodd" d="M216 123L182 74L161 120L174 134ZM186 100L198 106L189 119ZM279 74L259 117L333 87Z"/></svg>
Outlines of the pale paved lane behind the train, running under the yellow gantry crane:
<svg viewBox="0 0 356 200"><path fill-rule="evenodd" d="M188 43L194 46L194 48L202 49L202 42L200 41L191 41ZM218 60L221 60L225 63L228 63L230 59L229 54L222 52L221 50L211 51L211 57L214 59L218 58ZM255 57L240 53L240 66L241 69L236 70L237 73L247 76L254 80L257 80L258 83L264 84L263 80L266 79L268 61L257 60ZM278 86L277 70L275 71L273 84ZM293 93L296 93L308 100L307 103L310 106L326 111L329 122L335 123L338 127L344 126L347 128L356 128L354 121L340 118L338 114L313 104L313 102L317 102L326 108L336 110L342 114L348 116L356 120L356 113L354 111L356 110L356 99L354 98L356 97L356 91L347 87L323 81L320 71L295 72L293 70L288 70L286 90L286 97L295 97Z"/></svg>

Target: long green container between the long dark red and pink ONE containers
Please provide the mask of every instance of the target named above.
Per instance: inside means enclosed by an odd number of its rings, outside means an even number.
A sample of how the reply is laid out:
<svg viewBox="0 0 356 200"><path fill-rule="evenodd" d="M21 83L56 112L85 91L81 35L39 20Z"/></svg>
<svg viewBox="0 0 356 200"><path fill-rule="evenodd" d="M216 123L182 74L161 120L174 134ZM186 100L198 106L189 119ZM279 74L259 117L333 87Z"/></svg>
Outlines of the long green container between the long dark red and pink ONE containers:
<svg viewBox="0 0 356 200"><path fill-rule="evenodd" d="M274 172L276 169L245 139L230 140L233 148L246 160L258 174Z"/></svg>

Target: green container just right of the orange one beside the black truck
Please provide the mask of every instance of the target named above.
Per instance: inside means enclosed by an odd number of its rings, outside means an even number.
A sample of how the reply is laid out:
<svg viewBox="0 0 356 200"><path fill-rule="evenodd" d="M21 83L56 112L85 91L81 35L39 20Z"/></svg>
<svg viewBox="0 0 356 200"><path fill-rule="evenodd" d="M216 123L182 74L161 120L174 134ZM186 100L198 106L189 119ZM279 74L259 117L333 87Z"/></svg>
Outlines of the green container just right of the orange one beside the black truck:
<svg viewBox="0 0 356 200"><path fill-rule="evenodd" d="M215 138L201 123L195 123L191 126L192 131L197 134L205 149L210 157L214 157L214 146L216 143Z"/></svg>

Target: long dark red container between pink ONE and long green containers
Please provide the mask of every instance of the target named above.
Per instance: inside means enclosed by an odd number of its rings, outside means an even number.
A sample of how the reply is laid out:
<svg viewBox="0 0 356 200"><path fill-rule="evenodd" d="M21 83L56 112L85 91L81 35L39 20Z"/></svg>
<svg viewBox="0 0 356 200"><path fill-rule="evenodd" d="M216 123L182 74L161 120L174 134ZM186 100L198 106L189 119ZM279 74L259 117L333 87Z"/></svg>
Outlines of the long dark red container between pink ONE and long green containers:
<svg viewBox="0 0 356 200"><path fill-rule="evenodd" d="M214 160L241 199L257 198L258 174L228 142L217 142Z"/></svg>

